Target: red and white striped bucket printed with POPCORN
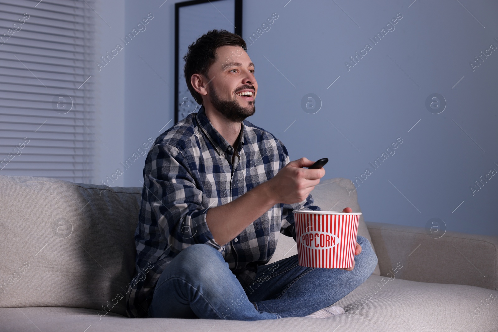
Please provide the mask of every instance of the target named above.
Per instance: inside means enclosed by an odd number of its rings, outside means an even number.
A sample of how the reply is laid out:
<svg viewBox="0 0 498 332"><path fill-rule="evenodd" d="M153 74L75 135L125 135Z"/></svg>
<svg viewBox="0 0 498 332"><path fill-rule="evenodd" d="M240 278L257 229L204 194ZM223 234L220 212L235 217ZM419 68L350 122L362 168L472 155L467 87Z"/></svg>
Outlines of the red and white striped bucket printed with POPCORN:
<svg viewBox="0 0 498 332"><path fill-rule="evenodd" d="M299 265L329 269L353 265L361 212L292 212Z"/></svg>

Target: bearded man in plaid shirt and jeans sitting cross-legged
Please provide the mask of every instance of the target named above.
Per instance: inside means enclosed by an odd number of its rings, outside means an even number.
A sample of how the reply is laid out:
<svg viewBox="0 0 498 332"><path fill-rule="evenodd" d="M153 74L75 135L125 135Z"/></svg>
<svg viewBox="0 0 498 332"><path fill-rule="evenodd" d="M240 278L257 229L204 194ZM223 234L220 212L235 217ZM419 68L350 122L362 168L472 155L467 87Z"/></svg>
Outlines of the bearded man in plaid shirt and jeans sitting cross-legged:
<svg viewBox="0 0 498 332"><path fill-rule="evenodd" d="M279 235L296 239L292 210L321 210L310 192L325 170L290 162L279 139L245 120L257 95L246 49L240 36L212 30L184 57L202 107L147 154L129 317L304 317L349 294L377 263L358 236L356 267L302 267L297 255L264 265Z"/></svg>

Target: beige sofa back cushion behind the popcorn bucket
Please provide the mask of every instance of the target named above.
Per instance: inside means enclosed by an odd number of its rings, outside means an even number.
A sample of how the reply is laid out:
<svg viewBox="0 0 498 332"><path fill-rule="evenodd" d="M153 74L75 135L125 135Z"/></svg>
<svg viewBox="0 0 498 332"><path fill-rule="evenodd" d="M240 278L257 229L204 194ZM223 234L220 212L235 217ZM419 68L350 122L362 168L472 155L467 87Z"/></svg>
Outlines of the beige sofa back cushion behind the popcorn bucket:
<svg viewBox="0 0 498 332"><path fill-rule="evenodd" d="M311 196L315 201L315 205L319 206L323 211L342 212L344 208L350 207L353 212L362 212L362 209L358 204L358 195L355 189L351 180L344 178L327 179L320 181L320 183L315 186L315 189L311 192ZM363 214L360 216L360 222L358 224L358 235L366 237L375 252L372 238L370 237ZM297 246L295 244L296 242L293 238L280 236L278 238L275 253L267 264L271 264L292 255L297 255ZM380 275L378 263L373 270L373 274Z"/></svg>

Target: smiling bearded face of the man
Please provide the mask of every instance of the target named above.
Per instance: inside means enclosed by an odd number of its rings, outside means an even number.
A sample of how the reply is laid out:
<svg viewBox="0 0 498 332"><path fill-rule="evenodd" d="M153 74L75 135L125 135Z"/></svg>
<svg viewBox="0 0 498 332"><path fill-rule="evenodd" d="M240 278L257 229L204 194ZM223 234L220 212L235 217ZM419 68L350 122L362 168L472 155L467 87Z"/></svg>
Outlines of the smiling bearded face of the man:
<svg viewBox="0 0 498 332"><path fill-rule="evenodd" d="M242 122L255 112L254 99L257 83L254 65L240 46L222 46L216 50L217 60L208 71L210 83L206 86L213 107L227 119ZM239 96L250 91L252 94Z"/></svg>

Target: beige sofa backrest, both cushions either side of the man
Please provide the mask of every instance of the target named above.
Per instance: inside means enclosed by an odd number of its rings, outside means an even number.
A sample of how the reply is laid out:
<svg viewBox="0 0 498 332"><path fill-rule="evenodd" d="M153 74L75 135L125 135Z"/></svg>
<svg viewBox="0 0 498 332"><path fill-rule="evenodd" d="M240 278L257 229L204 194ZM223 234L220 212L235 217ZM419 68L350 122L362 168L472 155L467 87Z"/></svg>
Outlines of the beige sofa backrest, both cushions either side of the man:
<svg viewBox="0 0 498 332"><path fill-rule="evenodd" d="M322 181L315 204L329 210L339 201L333 211L361 212L352 185ZM135 268L141 187L0 176L0 189L0 308L77 307L96 315L105 308L126 316L118 294L126 294ZM363 216L358 234L371 241ZM270 262L297 254L294 244L280 236Z"/></svg>

